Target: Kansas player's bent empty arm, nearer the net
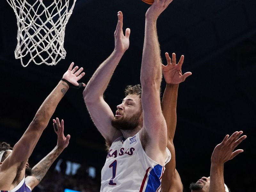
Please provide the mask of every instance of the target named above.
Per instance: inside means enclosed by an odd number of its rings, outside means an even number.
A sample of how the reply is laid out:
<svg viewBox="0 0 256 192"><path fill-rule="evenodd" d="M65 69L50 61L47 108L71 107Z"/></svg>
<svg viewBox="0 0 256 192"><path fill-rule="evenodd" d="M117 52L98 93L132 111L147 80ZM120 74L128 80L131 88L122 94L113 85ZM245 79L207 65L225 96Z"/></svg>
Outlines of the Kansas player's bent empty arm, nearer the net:
<svg viewBox="0 0 256 192"><path fill-rule="evenodd" d="M103 93L107 89L116 66L129 47L130 36L129 28L125 30L125 35L123 32L123 13L119 11L117 16L118 22L114 33L115 49L108 59L100 64L84 89L84 101L92 120L101 135L109 143L121 136L121 132L111 125L114 114L103 99Z"/></svg>

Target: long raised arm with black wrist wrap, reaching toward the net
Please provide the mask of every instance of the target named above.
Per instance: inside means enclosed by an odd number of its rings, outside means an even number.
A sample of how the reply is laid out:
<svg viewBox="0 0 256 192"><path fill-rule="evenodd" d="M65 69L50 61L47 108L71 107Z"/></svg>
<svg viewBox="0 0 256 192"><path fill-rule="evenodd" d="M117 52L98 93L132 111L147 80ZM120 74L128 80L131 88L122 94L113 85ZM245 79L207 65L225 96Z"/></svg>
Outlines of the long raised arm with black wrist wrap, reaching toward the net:
<svg viewBox="0 0 256 192"><path fill-rule="evenodd" d="M12 189L12 186L15 186L15 184L19 183L24 178L28 157L35 148L37 141L47 126L58 103L67 92L69 85L78 85L77 81L84 76L84 73L81 73L83 68L77 70L78 67L76 66L72 69L73 65L74 63L71 63L68 71L62 77L63 80L58 83L44 100L43 104L36 112L33 121L20 140L14 145L12 153L2 163L0 168L1 190ZM83 85L85 86L85 84Z"/></svg>

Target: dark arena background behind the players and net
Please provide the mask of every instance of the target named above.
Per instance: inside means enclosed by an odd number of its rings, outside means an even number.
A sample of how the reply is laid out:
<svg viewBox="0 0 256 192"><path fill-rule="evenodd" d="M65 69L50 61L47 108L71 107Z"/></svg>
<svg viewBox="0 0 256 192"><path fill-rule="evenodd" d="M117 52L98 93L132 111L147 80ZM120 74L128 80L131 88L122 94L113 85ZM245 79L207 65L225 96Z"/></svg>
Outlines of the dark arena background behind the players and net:
<svg viewBox="0 0 256 192"><path fill-rule="evenodd" d="M105 99L113 111L124 98L128 84L140 83L145 13L140 0L77 0L65 32L65 60L56 66L24 68L14 58L17 20L10 5L0 4L0 141L12 146L20 139L37 109L57 85L69 64L83 67L87 83L114 49L117 12L124 14L124 30L131 28L130 47L111 79ZM211 154L226 134L244 131L244 152L225 163L225 183L232 192L255 191L256 128L256 1L174 0L157 21L161 56L184 54L177 128L174 137L176 168L184 192L189 184L209 176ZM164 91L165 82L162 82ZM53 163L33 191L99 191L105 163L105 141L92 123L84 104L83 89L69 89L52 118L65 121L69 146ZM99 116L100 118L100 116ZM56 145L52 120L29 159L33 167ZM129 167L127 167L129 169ZM67 190L66 190L67 191Z"/></svg>

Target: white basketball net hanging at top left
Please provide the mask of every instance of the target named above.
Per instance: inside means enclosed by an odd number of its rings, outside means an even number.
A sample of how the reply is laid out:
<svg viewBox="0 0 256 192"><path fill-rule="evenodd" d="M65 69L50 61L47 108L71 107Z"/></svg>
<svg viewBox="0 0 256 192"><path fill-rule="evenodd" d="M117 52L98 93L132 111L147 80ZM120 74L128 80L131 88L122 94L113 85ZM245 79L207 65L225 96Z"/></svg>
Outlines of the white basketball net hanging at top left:
<svg viewBox="0 0 256 192"><path fill-rule="evenodd" d="M33 61L37 65L56 65L65 59L65 28L76 0L7 0L18 25L15 58L23 67ZM22 60L27 56L29 59ZM25 62L25 64L23 63Z"/></svg>

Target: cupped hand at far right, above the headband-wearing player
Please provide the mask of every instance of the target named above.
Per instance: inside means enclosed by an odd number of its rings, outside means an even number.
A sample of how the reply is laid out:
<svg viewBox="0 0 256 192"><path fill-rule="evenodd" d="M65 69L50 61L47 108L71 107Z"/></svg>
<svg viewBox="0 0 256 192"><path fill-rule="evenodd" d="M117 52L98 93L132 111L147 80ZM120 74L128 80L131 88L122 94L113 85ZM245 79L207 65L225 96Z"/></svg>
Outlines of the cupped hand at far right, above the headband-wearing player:
<svg viewBox="0 0 256 192"><path fill-rule="evenodd" d="M226 135L224 140L214 148L211 158L212 163L224 164L226 161L233 159L239 153L243 152L243 149L234 151L234 149L246 138L246 135L240 137L242 133L242 131L236 131L230 137L229 135Z"/></svg>

